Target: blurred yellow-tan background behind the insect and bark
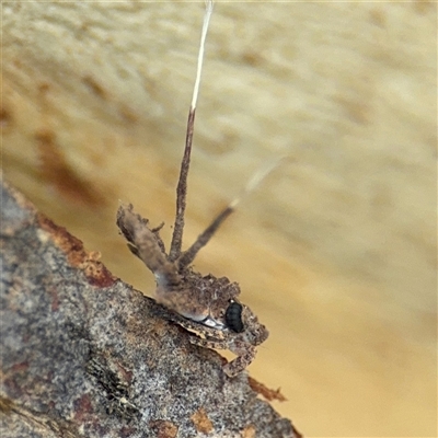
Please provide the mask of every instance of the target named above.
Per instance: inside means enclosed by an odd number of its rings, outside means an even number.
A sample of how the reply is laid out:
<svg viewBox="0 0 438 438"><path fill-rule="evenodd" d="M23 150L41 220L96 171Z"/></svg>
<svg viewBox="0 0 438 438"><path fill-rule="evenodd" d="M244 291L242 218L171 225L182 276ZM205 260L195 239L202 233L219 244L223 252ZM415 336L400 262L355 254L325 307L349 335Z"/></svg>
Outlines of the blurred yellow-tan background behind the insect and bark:
<svg viewBox="0 0 438 438"><path fill-rule="evenodd" d="M2 168L146 295L119 201L169 242L204 3L5 3ZM185 245L269 331L251 374L306 436L437 436L437 4L217 3Z"/></svg>

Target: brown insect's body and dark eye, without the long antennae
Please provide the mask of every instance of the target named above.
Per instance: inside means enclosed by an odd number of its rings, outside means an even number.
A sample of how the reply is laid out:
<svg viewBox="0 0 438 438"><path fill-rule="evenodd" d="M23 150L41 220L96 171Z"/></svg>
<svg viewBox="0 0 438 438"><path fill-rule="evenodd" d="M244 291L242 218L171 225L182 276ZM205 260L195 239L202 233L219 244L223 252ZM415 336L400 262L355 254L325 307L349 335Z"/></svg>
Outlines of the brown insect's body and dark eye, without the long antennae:
<svg viewBox="0 0 438 438"><path fill-rule="evenodd" d="M184 261L192 261L187 257L191 249L172 261L164 252L159 231L149 228L148 220L135 214L132 206L119 207L117 224L130 251L154 274L157 301L175 313L173 321L204 336L192 333L191 342L237 354L238 357L224 366L228 376L245 369L255 357L255 347L266 341L268 332L250 308L238 301L239 285L226 277L201 276L194 272L184 264Z"/></svg>

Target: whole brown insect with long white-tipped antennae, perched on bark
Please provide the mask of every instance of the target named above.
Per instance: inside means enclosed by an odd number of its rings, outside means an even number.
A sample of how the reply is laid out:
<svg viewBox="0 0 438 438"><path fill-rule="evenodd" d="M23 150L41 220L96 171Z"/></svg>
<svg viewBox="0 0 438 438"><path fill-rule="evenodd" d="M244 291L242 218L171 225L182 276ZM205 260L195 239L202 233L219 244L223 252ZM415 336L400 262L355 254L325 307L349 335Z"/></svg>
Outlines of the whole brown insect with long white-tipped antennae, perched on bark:
<svg viewBox="0 0 438 438"><path fill-rule="evenodd" d="M184 214L187 195L187 175L192 152L196 102L199 91L204 47L212 11L212 1L206 3L196 81L188 113L187 132L180 178L176 187L176 215L169 254L159 228L150 228L148 219L134 212L132 206L117 211L117 226L128 241L129 250L153 273L157 281L157 301L172 310L176 321L191 332L191 342L207 348L230 349L237 355L223 367L229 377L244 370L255 357L255 347L268 337L251 309L238 297L237 283L226 277L203 276L191 266L199 250L215 234L219 226L234 210L239 199L223 209L195 243L182 251Z"/></svg>

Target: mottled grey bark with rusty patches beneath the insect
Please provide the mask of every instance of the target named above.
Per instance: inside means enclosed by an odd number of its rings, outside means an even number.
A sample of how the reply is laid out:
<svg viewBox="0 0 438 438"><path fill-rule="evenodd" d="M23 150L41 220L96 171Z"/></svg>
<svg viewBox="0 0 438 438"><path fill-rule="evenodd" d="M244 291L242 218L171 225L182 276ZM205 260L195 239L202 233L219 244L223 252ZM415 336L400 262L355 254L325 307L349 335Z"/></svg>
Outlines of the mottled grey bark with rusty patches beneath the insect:
<svg viewBox="0 0 438 438"><path fill-rule="evenodd" d="M299 436L4 183L0 255L1 437Z"/></svg>

